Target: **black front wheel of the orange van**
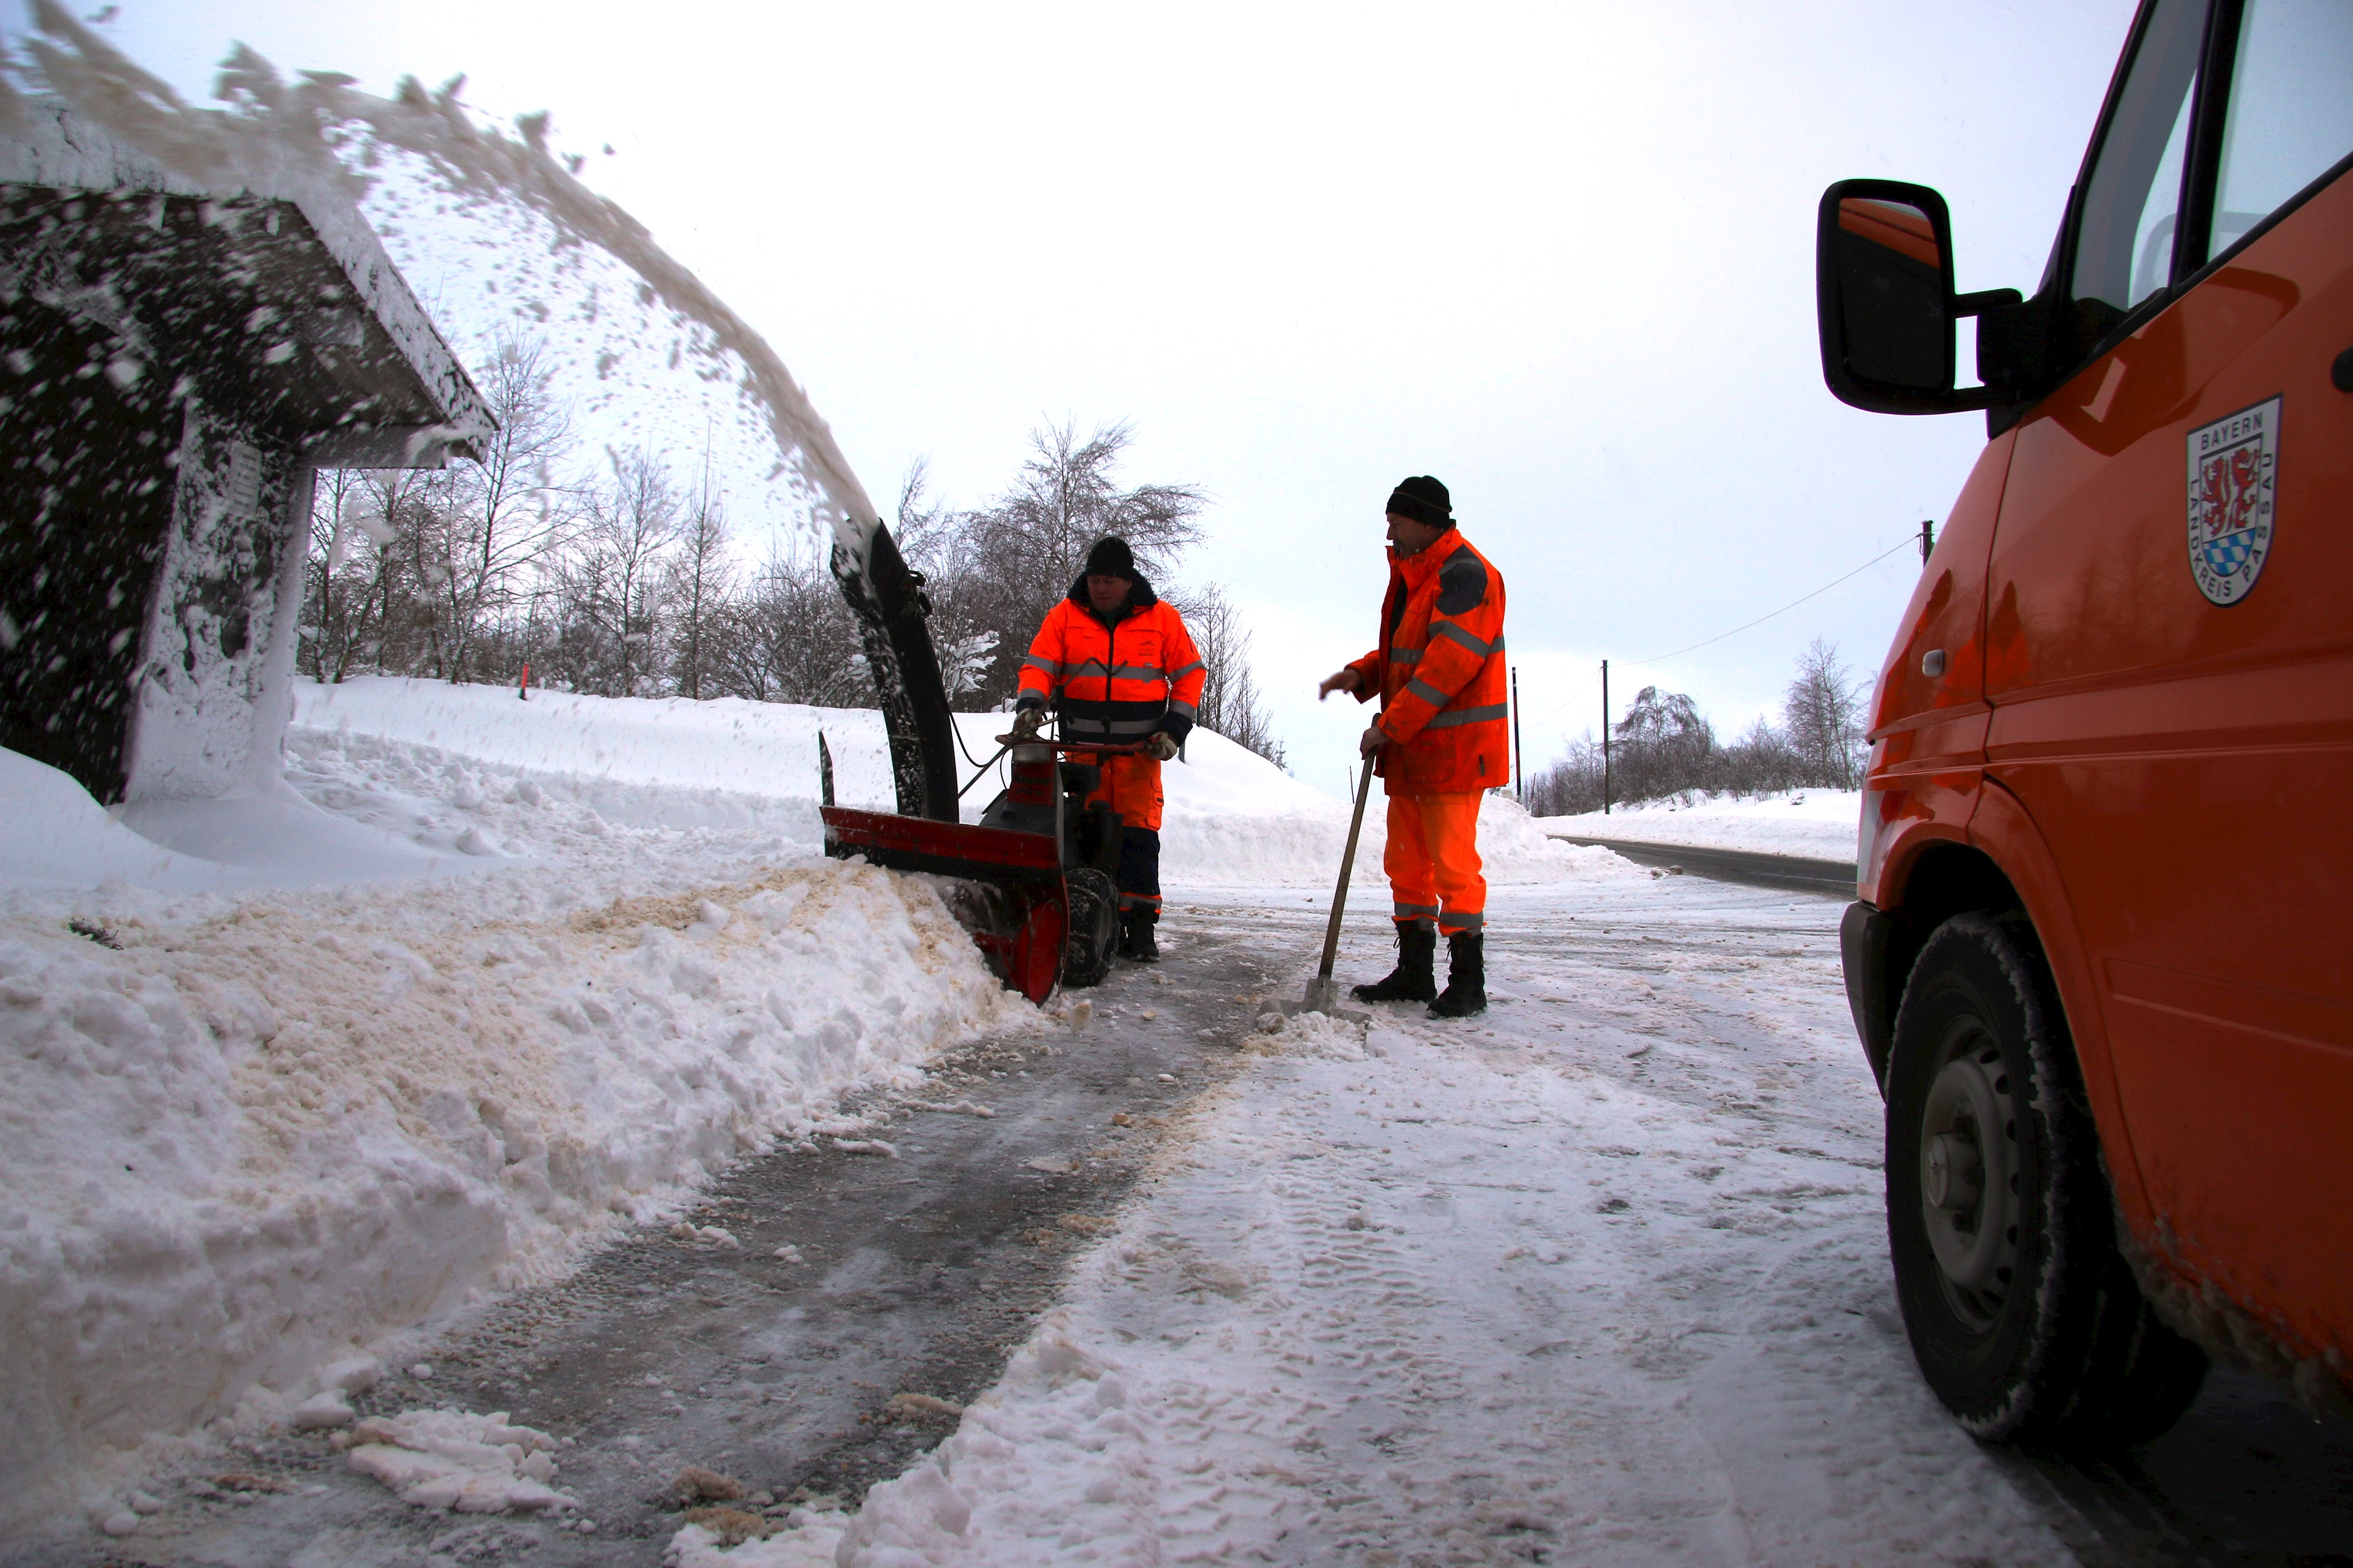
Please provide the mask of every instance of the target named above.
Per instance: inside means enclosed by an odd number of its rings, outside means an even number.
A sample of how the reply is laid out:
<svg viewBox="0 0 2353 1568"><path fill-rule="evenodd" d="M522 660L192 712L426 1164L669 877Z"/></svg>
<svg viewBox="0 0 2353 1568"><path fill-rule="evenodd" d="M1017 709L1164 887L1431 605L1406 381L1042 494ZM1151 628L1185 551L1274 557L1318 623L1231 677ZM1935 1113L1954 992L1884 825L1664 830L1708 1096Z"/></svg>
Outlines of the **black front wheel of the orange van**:
<svg viewBox="0 0 2353 1568"><path fill-rule="evenodd" d="M1904 985L1887 1251L1913 1359L1979 1439L2139 1443L2205 1380L2118 1253L2075 1046L2021 914L1955 914Z"/></svg>

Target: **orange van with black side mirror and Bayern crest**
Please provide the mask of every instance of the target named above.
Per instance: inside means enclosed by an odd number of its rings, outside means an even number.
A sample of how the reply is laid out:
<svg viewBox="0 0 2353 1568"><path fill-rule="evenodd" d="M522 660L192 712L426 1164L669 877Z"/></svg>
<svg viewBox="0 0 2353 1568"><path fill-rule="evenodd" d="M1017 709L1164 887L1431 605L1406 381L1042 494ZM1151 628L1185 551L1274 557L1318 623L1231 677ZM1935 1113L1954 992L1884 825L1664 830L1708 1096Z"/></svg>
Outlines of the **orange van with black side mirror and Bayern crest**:
<svg viewBox="0 0 2353 1568"><path fill-rule="evenodd" d="M2353 1406L2353 5L2148 0L2033 299L1821 197L1831 390L1984 409L1880 670L1847 1001L1920 1371L2139 1441ZM1955 386L1977 320L1984 386Z"/></svg>

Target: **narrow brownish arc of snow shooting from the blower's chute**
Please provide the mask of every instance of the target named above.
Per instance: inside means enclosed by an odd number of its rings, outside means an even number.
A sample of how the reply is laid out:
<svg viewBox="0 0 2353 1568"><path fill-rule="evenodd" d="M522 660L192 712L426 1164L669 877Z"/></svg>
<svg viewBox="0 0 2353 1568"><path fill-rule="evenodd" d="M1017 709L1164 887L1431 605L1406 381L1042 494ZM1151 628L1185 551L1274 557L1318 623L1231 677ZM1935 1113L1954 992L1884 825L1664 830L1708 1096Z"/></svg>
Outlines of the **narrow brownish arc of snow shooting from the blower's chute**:
<svg viewBox="0 0 2353 1568"><path fill-rule="evenodd" d="M859 484L809 395L774 348L704 282L680 266L621 205L595 195L546 146L546 118L525 115L525 139L475 125L456 101L464 78L426 92L402 78L395 99L353 92L351 78L304 73L289 85L266 59L235 45L221 63L216 96L235 108L195 108L172 87L85 28L56 0L33 0L42 33L26 40L47 87L155 162L207 186L285 183L289 174L329 181L346 193L365 176L336 158L327 132L365 125L393 148L431 160L464 188L506 195L541 214L558 233L595 244L654 289L678 315L701 324L746 371L746 388L767 411L769 433L800 480L816 520L861 567L880 512ZM61 47L66 45L66 47ZM0 82L0 120L14 108Z"/></svg>

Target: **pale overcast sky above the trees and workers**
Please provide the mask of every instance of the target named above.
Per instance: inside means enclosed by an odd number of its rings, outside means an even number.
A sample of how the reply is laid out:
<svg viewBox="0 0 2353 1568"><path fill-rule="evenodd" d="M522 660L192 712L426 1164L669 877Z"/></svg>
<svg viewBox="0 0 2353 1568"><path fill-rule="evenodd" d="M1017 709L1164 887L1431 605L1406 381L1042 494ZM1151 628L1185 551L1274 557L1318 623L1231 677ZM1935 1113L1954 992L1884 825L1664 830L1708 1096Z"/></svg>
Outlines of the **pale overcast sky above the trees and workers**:
<svg viewBox="0 0 2353 1568"><path fill-rule="evenodd" d="M78 9L94 9L80 5ZM386 92L548 108L584 176L751 320L868 491L984 501L1040 421L1127 418L1214 496L1294 771L1344 790L1381 501L1454 491L1511 588L1532 766L1645 682L1727 738L1809 637L1875 675L1981 416L1840 407L1821 188L1953 205L1962 289L2031 289L2132 5L572 5L127 0L191 96L242 40ZM595 155L612 143L614 155Z"/></svg>

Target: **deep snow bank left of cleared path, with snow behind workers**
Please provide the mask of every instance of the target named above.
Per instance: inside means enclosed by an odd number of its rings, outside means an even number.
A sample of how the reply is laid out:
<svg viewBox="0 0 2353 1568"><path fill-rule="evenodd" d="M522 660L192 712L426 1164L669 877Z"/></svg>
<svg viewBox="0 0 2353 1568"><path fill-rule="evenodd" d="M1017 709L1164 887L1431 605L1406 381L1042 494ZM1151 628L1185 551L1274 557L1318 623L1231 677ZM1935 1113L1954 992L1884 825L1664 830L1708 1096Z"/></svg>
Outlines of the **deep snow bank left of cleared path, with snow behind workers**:
<svg viewBox="0 0 2353 1568"><path fill-rule="evenodd" d="M819 729L840 797L887 804L878 715L294 696L287 783L231 799L108 813L0 752L0 1516L1040 1025L927 879L821 856ZM1169 797L1205 872L1320 882L1346 832L1217 736ZM1492 816L1501 875L1595 853Z"/></svg>

